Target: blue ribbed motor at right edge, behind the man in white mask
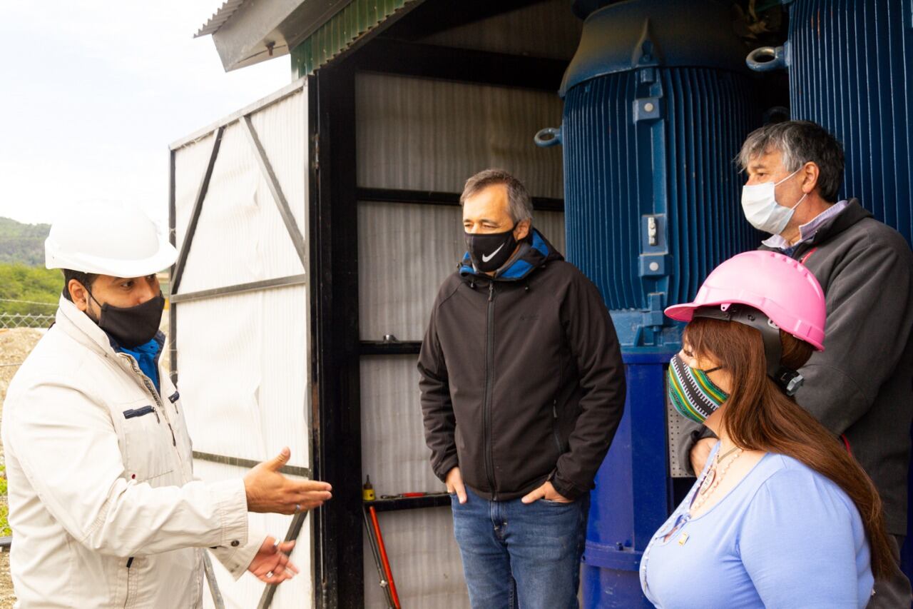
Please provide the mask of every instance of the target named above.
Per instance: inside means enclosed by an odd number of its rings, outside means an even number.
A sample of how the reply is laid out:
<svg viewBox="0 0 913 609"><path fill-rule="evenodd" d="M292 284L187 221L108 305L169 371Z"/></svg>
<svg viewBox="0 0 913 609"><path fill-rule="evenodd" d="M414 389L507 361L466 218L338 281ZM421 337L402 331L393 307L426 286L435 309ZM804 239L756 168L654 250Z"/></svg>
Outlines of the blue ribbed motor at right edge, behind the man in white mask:
<svg viewBox="0 0 913 609"><path fill-rule="evenodd" d="M790 15L787 43L751 51L750 68L789 70L792 118L819 123L844 144L840 198L858 197L876 219L913 241L913 1L783 4ZM913 494L913 477L909 489ZM908 522L902 557L908 577L911 531Z"/></svg>

